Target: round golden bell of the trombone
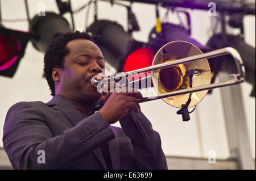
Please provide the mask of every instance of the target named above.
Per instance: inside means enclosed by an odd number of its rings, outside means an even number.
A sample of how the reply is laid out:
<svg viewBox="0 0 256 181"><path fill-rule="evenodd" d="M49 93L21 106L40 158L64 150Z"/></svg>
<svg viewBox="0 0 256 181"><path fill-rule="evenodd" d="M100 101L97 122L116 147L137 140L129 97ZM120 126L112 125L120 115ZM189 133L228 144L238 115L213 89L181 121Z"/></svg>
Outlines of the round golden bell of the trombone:
<svg viewBox="0 0 256 181"><path fill-rule="evenodd" d="M172 41L158 50L152 62L152 66L198 54L203 54L203 52L195 45L187 41ZM191 79L189 79L189 70L193 71ZM156 75L151 77L158 94L210 85L211 79L210 66L207 58L164 69L152 70L151 75ZM192 87L190 87L191 85L189 85L189 83L191 83ZM204 99L207 92L208 90L192 92L191 102L188 107L198 104ZM189 93L163 98L164 102L177 108L181 108L181 105L185 104L188 99Z"/></svg>

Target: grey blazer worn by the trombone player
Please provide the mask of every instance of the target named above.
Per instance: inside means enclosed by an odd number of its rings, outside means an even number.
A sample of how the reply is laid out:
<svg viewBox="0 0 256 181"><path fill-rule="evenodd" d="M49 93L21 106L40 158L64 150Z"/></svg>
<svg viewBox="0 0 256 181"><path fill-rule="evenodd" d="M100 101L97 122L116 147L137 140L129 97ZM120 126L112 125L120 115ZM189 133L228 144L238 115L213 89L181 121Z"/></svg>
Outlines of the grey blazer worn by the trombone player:
<svg viewBox="0 0 256 181"><path fill-rule="evenodd" d="M3 148L14 169L106 169L100 146L109 145L113 169L167 169L159 133L134 111L108 125L99 112L86 117L63 96L19 102L6 115ZM45 163L38 162L44 151Z"/></svg>

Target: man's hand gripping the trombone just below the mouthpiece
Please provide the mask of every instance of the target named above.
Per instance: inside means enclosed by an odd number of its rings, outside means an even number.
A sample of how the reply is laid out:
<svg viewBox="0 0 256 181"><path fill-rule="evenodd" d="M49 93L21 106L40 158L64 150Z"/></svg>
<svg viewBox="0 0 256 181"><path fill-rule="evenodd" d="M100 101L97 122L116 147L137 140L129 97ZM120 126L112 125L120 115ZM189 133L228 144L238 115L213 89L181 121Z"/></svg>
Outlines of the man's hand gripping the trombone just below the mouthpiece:
<svg viewBox="0 0 256 181"><path fill-rule="evenodd" d="M141 107L137 99L141 98L141 92L122 87L122 92L108 92L102 97L105 104L98 112L101 113L108 124L114 124L133 110L140 112Z"/></svg>

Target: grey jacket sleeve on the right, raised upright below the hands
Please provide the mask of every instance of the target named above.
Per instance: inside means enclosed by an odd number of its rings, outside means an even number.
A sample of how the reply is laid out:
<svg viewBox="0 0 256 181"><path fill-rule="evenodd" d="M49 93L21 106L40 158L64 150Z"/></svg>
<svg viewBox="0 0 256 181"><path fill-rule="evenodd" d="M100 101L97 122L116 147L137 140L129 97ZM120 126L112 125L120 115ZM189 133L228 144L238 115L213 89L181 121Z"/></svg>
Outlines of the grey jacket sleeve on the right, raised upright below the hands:
<svg viewBox="0 0 256 181"><path fill-rule="evenodd" d="M159 133L142 112L132 111L119 120L123 132L130 138L137 160L137 169L168 169Z"/></svg>

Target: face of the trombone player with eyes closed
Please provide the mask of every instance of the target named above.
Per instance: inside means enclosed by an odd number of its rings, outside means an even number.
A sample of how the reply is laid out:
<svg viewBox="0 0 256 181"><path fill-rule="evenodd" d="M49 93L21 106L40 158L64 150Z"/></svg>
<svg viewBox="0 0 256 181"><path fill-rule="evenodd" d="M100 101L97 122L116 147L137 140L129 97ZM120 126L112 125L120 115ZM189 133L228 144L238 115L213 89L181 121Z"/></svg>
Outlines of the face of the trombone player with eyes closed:
<svg viewBox="0 0 256 181"><path fill-rule="evenodd" d="M65 56L64 68L60 69L60 95L92 106L101 94L90 83L92 77L105 72L101 50L92 41L76 39L66 46L70 53Z"/></svg>

